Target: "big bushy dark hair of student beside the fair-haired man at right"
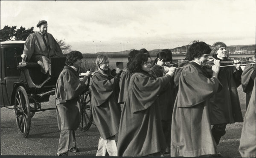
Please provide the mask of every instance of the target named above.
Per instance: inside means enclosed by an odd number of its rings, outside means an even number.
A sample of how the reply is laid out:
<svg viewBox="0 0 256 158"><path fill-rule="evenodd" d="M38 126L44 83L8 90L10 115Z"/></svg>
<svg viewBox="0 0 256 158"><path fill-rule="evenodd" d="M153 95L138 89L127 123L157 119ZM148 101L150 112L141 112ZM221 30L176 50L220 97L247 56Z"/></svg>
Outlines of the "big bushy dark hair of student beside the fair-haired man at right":
<svg viewBox="0 0 256 158"><path fill-rule="evenodd" d="M201 57L203 54L210 54L212 49L205 42L193 41L186 54L186 59L191 61Z"/></svg>

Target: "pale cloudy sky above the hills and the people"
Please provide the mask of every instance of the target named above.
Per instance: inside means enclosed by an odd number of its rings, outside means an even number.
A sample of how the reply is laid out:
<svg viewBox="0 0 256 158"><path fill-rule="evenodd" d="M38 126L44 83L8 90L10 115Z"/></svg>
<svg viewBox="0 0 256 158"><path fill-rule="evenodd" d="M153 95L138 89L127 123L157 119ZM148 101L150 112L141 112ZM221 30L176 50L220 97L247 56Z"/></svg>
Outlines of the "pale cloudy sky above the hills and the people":
<svg viewBox="0 0 256 158"><path fill-rule="evenodd" d="M1 29L38 31L39 20L81 53L256 43L256 0L0 1Z"/></svg>

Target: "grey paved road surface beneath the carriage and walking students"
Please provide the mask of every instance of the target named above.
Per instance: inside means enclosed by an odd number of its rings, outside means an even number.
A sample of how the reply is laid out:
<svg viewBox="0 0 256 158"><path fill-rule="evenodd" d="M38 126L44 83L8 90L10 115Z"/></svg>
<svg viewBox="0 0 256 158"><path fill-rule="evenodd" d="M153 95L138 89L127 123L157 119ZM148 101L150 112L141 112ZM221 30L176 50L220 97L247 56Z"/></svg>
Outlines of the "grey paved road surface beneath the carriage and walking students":
<svg viewBox="0 0 256 158"><path fill-rule="evenodd" d="M238 88L242 113L245 113L245 93ZM54 107L53 97L42 104L43 108ZM13 110L1 108L1 154L2 155L56 155L60 131L55 110L37 112L31 120L28 138L19 134ZM218 150L223 157L241 157L238 151L242 123L228 124L227 133L221 138ZM99 131L92 125L86 132L76 131L76 142L80 152L69 155L95 156Z"/></svg>

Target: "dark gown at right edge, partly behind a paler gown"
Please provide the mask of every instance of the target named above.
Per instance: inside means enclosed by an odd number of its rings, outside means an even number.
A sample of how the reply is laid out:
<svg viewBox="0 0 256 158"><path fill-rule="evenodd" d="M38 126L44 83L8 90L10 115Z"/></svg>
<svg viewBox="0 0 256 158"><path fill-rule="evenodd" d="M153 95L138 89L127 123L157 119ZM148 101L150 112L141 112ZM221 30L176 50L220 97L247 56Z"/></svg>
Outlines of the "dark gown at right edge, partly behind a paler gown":
<svg viewBox="0 0 256 158"><path fill-rule="evenodd" d="M241 75L241 85L243 87L244 93L246 93L246 109L248 107L250 96L253 91L254 79L255 79L255 64L246 65Z"/></svg>

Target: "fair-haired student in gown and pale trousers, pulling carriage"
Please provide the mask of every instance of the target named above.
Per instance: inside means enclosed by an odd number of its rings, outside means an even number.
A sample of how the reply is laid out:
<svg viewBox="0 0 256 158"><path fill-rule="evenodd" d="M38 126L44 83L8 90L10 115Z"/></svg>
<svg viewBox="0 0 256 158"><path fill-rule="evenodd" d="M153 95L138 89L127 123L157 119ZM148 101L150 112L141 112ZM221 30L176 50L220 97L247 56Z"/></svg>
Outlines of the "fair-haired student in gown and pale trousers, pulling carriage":
<svg viewBox="0 0 256 158"><path fill-rule="evenodd" d="M120 71L111 75L108 57L99 55L96 59L98 71L91 79L93 120L99 130L100 138L96 156L117 156L115 135L118 133L121 116L117 104Z"/></svg>

